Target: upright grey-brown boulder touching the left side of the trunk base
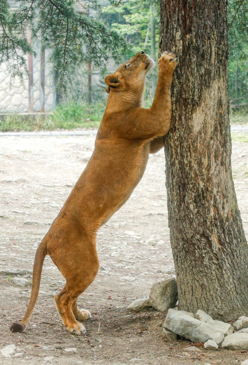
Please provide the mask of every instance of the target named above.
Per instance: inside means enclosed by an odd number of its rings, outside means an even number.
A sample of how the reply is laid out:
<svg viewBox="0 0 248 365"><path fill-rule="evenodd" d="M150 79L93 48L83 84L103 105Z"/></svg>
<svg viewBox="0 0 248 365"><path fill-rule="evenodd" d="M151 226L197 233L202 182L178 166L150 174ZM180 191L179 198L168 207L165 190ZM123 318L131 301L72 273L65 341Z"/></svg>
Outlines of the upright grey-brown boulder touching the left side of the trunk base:
<svg viewBox="0 0 248 365"><path fill-rule="evenodd" d="M177 281L174 277L168 277L163 281L154 283L149 295L153 308L164 312L175 307L177 303Z"/></svg>

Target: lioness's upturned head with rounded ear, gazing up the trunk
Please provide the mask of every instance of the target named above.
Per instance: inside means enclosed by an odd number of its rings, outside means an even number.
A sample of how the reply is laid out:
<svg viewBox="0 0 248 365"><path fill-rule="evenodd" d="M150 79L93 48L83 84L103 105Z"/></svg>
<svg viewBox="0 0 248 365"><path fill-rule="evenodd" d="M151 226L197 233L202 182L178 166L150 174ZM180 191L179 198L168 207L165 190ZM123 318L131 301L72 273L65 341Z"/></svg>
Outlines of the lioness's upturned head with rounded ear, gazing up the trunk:
<svg viewBox="0 0 248 365"><path fill-rule="evenodd" d="M141 51L128 62L122 64L114 74L105 78L106 92L143 93L147 72L153 66L153 60Z"/></svg>

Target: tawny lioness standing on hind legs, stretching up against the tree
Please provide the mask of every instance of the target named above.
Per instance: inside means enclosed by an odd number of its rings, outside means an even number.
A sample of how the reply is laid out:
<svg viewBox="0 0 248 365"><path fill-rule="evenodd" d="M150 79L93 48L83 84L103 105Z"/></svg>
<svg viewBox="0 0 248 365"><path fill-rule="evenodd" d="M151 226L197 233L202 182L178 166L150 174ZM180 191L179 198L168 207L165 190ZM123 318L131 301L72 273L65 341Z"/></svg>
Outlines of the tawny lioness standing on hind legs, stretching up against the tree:
<svg viewBox="0 0 248 365"><path fill-rule="evenodd" d="M55 295L59 315L71 333L86 332L77 320L86 320L91 314L80 310L77 301L98 272L97 230L127 201L145 171L149 153L164 145L162 136L170 128L170 85L176 56L165 52L158 65L150 109L141 104L153 61L143 51L105 78L109 96L94 152L36 251L31 298L24 318L11 325L12 332L23 332L29 322L47 254L66 278L65 287Z"/></svg>

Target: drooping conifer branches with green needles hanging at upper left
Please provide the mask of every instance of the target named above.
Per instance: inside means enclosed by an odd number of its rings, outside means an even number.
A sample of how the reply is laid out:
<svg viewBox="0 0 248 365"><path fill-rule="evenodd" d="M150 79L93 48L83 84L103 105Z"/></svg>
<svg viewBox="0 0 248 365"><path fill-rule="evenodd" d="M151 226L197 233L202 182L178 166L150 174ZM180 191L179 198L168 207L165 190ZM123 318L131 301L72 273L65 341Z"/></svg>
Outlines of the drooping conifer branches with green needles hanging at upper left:
<svg viewBox="0 0 248 365"><path fill-rule="evenodd" d="M88 2L99 12L96 0ZM119 62L127 42L90 15L89 8L76 9L76 0L31 0L18 2L10 11L7 0L0 0L0 63L9 62L13 76L27 73L24 55L34 53L26 39L32 31L33 41L41 36L42 47L50 48L50 62L56 87L65 90L71 75L89 60L103 71L109 57ZM99 18L99 16L98 16Z"/></svg>

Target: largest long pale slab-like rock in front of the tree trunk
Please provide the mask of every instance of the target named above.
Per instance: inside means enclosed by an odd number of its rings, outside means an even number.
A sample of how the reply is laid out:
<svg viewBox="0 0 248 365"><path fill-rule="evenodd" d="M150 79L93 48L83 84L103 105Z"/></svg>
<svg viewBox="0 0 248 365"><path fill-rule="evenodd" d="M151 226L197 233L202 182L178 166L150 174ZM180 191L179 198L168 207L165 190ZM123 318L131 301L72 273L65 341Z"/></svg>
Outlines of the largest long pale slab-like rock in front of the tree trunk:
<svg viewBox="0 0 248 365"><path fill-rule="evenodd" d="M212 339L219 345L224 340L223 331L217 330L212 324L201 322L174 309L169 309L164 327L192 342L206 342Z"/></svg>

